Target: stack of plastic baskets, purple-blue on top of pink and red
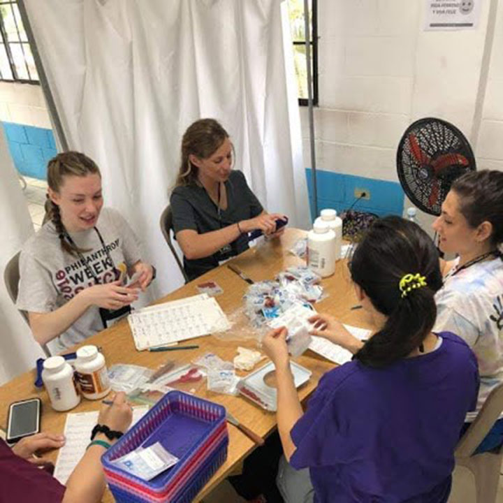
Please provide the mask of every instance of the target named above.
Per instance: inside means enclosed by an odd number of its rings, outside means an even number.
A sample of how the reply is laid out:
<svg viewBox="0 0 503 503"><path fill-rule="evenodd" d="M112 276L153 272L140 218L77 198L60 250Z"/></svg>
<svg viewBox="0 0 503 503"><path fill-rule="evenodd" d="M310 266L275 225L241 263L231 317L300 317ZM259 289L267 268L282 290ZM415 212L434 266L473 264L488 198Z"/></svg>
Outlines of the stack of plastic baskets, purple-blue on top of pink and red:
<svg viewBox="0 0 503 503"><path fill-rule="evenodd" d="M138 446L160 442L180 459L144 481L111 461ZM110 490L119 502L189 502L227 456L225 408L170 391L101 457Z"/></svg>

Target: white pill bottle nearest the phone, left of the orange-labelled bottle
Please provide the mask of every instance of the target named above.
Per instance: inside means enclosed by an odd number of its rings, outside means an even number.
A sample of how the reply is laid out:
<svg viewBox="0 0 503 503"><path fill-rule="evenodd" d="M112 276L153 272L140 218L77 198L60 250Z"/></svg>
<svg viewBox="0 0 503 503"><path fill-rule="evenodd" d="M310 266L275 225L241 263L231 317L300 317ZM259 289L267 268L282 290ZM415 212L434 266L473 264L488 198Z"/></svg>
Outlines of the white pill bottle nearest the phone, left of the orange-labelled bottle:
<svg viewBox="0 0 503 503"><path fill-rule="evenodd" d="M62 356L51 356L44 361L42 381L54 410L70 410L80 403L73 368Z"/></svg>

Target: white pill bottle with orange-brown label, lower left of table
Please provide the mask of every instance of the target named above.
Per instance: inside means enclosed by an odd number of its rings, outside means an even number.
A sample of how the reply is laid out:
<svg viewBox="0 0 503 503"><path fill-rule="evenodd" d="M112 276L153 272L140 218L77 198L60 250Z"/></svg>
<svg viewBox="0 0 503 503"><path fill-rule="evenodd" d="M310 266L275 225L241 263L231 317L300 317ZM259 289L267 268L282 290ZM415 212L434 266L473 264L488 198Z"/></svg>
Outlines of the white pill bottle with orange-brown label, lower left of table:
<svg viewBox="0 0 503 503"><path fill-rule="evenodd" d="M88 400L99 400L110 393L105 357L96 346L82 346L77 350L75 370L80 391Z"/></svg>

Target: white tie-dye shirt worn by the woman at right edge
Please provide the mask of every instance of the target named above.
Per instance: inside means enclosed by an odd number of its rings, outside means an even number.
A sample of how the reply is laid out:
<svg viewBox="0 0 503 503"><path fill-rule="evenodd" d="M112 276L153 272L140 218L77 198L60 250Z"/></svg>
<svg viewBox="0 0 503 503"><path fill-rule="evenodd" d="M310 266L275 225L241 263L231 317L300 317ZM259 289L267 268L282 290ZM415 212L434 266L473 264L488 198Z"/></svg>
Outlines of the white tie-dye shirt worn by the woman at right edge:
<svg viewBox="0 0 503 503"><path fill-rule="evenodd" d="M476 411L467 414L467 421L473 421L489 393L503 382L503 261L494 258L455 275L450 272L435 300L433 330L449 330L462 337L479 363L479 399Z"/></svg>

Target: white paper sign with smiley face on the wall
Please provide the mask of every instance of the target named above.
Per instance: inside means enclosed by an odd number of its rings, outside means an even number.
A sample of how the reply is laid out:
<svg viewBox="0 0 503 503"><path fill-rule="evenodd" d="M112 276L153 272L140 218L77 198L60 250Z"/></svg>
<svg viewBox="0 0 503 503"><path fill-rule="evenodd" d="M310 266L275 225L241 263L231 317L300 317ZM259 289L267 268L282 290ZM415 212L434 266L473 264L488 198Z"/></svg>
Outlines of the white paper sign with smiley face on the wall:
<svg viewBox="0 0 503 503"><path fill-rule="evenodd" d="M425 30L474 29L482 0L425 0Z"/></svg>

